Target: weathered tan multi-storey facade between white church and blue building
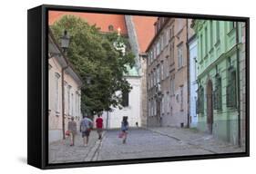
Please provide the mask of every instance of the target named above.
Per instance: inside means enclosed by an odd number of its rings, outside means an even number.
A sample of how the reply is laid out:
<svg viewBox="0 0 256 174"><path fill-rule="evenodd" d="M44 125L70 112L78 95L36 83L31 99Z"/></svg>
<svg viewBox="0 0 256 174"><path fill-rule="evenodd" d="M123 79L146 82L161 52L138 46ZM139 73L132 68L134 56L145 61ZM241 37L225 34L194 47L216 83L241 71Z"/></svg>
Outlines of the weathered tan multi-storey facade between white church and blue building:
<svg viewBox="0 0 256 174"><path fill-rule="evenodd" d="M159 17L148 46L148 126L186 127L188 20Z"/></svg>

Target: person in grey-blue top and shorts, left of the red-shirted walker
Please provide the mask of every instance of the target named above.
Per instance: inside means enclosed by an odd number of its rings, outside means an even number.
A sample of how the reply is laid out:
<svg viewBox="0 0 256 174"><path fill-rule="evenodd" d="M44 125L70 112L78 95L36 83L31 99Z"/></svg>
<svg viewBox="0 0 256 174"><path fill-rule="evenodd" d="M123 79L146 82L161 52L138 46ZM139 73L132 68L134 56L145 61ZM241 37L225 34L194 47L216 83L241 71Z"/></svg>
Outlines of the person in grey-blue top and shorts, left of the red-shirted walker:
<svg viewBox="0 0 256 174"><path fill-rule="evenodd" d="M84 140L84 146L87 147L89 142L90 131L93 128L93 121L87 116L83 116L83 120L80 123L80 132L82 132L82 138Z"/></svg>

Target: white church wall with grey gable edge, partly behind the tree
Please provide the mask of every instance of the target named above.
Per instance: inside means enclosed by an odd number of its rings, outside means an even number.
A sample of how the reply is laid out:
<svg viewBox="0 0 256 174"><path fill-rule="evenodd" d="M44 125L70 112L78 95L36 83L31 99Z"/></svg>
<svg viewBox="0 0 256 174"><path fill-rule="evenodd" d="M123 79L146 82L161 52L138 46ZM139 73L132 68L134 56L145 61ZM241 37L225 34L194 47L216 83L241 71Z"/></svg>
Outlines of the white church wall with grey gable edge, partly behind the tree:
<svg viewBox="0 0 256 174"><path fill-rule="evenodd" d="M126 16L127 26L130 18ZM134 28L128 27L129 42L131 43L132 51L136 55L136 65L133 68L128 68L128 73L125 74L125 78L131 85L132 89L128 93L117 92L117 95L121 95L123 100L123 108L112 108L112 111L104 111L103 120L104 127L108 129L120 128L121 121L124 116L128 117L129 127L140 127L141 126L141 75L140 72L140 61L138 54L138 41L133 37ZM120 32L120 30L118 30ZM119 34L119 33L118 33ZM117 46L119 45L119 46ZM126 45L124 43L114 43L117 50L120 50L123 55L126 53Z"/></svg>

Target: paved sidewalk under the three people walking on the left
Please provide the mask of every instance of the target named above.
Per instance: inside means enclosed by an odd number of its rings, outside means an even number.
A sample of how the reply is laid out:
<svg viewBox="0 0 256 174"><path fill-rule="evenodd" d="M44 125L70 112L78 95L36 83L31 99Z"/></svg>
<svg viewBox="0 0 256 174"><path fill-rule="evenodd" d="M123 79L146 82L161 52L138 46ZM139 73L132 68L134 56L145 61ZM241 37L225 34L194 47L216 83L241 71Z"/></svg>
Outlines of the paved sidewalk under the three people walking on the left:
<svg viewBox="0 0 256 174"><path fill-rule="evenodd" d="M51 143L49 145L49 163L94 160L96 151L101 144L101 140L97 138L97 131L91 131L88 146L85 147L83 146L82 135L78 132L75 139L75 146L69 146L69 137L66 140L58 140Z"/></svg>

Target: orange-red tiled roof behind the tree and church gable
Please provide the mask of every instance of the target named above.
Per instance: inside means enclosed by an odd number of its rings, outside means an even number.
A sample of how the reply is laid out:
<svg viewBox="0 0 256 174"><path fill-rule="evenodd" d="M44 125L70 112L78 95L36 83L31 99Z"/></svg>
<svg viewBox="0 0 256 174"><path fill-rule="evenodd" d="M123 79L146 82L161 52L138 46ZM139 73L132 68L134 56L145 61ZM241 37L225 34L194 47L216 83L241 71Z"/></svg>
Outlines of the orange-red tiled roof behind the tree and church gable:
<svg viewBox="0 0 256 174"><path fill-rule="evenodd" d="M115 31L117 31L119 27L121 29L121 34L128 34L125 16L123 14L96 14L49 11L48 24L54 24L65 14L73 14L85 19L88 24L96 24L97 27L100 27L100 30L102 32L109 32L108 26L111 24L113 25ZM154 23L157 21L157 17L134 15L132 19L138 37L138 46L140 53L145 53L148 44L151 42L155 34Z"/></svg>

